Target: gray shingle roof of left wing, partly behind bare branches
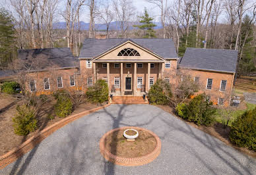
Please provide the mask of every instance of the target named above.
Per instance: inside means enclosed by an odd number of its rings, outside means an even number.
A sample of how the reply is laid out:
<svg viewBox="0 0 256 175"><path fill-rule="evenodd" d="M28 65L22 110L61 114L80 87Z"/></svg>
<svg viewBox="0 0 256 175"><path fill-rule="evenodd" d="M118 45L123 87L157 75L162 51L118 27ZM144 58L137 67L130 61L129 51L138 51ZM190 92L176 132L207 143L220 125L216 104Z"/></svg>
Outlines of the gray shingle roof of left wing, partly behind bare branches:
<svg viewBox="0 0 256 175"><path fill-rule="evenodd" d="M40 69L77 67L78 62L68 47L20 49L18 59L24 63L34 62Z"/></svg>

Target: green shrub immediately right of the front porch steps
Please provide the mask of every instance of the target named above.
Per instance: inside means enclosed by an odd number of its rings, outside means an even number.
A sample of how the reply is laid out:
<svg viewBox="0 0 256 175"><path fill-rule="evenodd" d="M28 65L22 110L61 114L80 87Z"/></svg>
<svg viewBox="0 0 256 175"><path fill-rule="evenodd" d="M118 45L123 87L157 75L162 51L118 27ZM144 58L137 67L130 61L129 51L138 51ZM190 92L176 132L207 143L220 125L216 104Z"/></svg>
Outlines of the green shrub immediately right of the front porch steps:
<svg viewBox="0 0 256 175"><path fill-rule="evenodd" d="M172 90L170 84L164 80L157 80L148 91L148 100L154 105L166 105L172 97Z"/></svg>

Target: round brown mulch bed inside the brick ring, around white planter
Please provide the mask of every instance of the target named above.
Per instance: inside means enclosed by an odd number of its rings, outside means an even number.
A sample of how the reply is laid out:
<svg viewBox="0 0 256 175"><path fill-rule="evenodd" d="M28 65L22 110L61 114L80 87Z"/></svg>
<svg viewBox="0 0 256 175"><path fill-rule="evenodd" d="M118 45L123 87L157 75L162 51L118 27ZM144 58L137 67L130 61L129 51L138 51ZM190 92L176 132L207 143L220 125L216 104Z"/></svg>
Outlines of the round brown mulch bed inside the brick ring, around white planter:
<svg viewBox="0 0 256 175"><path fill-rule="evenodd" d="M108 135L104 141L106 149L113 155L135 158L148 155L156 148L156 139L150 133L138 130L139 136L135 138L135 141L127 141L123 136L124 131L117 130ZM125 133L131 136L136 134L136 132L131 130Z"/></svg>

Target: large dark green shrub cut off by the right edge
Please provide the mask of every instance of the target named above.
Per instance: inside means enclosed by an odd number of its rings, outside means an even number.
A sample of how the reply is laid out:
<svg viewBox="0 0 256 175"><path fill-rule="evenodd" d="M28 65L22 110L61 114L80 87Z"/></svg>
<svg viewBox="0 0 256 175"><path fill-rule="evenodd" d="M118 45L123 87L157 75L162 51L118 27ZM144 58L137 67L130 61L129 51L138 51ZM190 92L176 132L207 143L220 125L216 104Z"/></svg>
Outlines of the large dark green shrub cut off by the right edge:
<svg viewBox="0 0 256 175"><path fill-rule="evenodd" d="M230 141L238 147L256 151L256 107L241 114L232 123Z"/></svg>

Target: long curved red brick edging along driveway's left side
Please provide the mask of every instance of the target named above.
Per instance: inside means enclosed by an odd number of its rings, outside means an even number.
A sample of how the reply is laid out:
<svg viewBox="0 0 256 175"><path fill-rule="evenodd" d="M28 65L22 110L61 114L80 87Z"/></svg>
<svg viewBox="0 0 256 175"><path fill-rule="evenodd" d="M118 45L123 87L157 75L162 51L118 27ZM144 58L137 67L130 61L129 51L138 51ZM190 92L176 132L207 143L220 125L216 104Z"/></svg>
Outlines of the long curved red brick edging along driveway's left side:
<svg viewBox="0 0 256 175"><path fill-rule="evenodd" d="M74 120L77 120L78 118L90 114L91 112L98 111L100 109L104 109L105 107L110 106L110 103L107 105L104 105L102 107L96 107L94 109L90 109L88 111L80 112L78 114L74 114L72 116L68 116L67 118L64 118L63 120L59 120L58 122L55 122L51 126L48 126L47 128L44 128L44 130L38 132L35 136L30 137L26 141L24 141L20 146L12 149L8 153L5 153L4 155L0 156L0 169L5 168L8 164L11 164L12 162L16 161L19 157L22 155L28 153L31 149L36 147L38 143L40 143L43 139L51 135L53 132L58 130L59 128L62 128L63 126L69 124L70 122L73 122Z"/></svg>

